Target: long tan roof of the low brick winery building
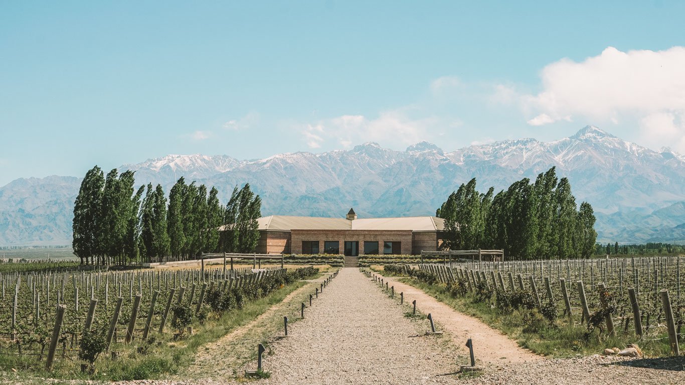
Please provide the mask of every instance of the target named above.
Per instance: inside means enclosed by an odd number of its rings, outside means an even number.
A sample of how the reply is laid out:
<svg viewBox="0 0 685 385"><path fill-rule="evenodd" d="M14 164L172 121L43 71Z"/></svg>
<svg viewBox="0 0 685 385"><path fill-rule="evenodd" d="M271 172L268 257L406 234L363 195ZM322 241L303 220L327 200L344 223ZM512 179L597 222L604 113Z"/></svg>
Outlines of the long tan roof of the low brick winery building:
<svg viewBox="0 0 685 385"><path fill-rule="evenodd" d="M445 221L435 216L405 216L402 218L368 218L349 221L344 218L319 216L271 215L258 219L260 230L412 230L426 232L443 230Z"/></svg>

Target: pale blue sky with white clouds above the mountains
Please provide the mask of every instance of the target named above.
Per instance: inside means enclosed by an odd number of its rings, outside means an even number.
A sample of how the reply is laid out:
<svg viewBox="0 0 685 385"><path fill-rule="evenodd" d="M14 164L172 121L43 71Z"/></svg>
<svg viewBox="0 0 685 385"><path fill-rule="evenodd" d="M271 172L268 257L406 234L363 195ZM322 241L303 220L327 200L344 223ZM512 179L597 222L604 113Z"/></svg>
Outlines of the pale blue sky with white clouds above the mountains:
<svg viewBox="0 0 685 385"><path fill-rule="evenodd" d="M0 1L0 186L170 153L685 153L685 1Z"/></svg>

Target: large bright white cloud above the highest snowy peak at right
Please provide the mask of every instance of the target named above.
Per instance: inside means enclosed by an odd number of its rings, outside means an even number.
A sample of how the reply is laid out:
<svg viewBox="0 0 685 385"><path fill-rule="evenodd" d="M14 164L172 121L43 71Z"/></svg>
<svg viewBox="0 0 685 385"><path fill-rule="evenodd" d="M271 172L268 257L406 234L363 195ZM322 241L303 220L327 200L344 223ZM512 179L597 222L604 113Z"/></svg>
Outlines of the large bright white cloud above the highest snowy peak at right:
<svg viewBox="0 0 685 385"><path fill-rule="evenodd" d="M619 51L608 47L582 62L562 59L540 73L542 90L518 94L530 125L582 116L596 124L639 122L646 145L678 142L685 151L685 47ZM493 98L510 97L502 86ZM577 119L574 119L577 120ZM657 136L651 133L657 132Z"/></svg>

